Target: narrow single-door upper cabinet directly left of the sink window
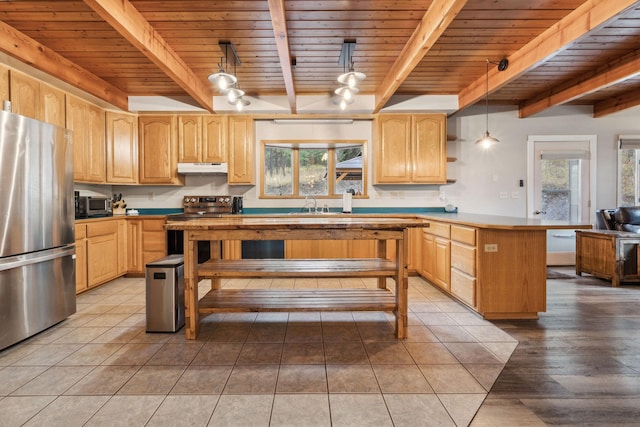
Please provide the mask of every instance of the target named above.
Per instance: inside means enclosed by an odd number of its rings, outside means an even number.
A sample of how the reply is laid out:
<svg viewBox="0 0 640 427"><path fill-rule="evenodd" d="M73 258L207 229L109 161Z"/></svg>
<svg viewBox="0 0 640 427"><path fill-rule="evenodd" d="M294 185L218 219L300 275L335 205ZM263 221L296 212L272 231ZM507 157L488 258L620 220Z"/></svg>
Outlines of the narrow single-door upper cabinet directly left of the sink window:
<svg viewBox="0 0 640 427"><path fill-rule="evenodd" d="M229 117L229 174L230 185L255 184L255 146L253 118Z"/></svg>

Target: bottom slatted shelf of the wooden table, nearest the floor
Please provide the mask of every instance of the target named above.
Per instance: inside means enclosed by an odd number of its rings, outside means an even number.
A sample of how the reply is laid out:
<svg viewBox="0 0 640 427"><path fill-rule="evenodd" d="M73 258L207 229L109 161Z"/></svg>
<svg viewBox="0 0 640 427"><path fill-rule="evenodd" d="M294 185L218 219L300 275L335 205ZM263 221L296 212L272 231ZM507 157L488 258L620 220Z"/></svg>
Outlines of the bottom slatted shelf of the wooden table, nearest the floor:
<svg viewBox="0 0 640 427"><path fill-rule="evenodd" d="M395 311L387 289L216 289L199 302L202 314L268 311Z"/></svg>

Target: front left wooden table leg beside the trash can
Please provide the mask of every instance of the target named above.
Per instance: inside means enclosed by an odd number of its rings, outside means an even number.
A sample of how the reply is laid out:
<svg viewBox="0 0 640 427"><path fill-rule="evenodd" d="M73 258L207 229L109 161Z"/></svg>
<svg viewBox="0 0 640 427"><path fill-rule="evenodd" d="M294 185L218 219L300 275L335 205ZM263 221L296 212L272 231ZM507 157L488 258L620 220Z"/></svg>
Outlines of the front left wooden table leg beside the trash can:
<svg viewBox="0 0 640 427"><path fill-rule="evenodd" d="M198 337L198 242L189 238L190 232L184 233L184 305L185 335L187 339Z"/></svg>

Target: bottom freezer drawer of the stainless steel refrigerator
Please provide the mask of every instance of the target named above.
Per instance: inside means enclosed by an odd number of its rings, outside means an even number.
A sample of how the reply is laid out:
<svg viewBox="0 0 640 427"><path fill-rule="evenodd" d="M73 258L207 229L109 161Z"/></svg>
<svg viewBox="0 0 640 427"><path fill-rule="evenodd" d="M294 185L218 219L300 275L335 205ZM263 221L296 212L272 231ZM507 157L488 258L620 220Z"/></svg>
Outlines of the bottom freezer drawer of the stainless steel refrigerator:
<svg viewBox="0 0 640 427"><path fill-rule="evenodd" d="M73 245L0 259L0 349L76 312Z"/></svg>

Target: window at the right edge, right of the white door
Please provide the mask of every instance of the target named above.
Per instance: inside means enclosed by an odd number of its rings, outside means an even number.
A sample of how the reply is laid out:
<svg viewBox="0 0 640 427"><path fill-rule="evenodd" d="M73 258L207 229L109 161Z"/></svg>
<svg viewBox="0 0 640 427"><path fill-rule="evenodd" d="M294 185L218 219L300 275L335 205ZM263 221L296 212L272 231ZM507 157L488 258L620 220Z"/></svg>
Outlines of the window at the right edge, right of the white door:
<svg viewBox="0 0 640 427"><path fill-rule="evenodd" d="M618 206L640 202L640 135L618 137Z"/></svg>

